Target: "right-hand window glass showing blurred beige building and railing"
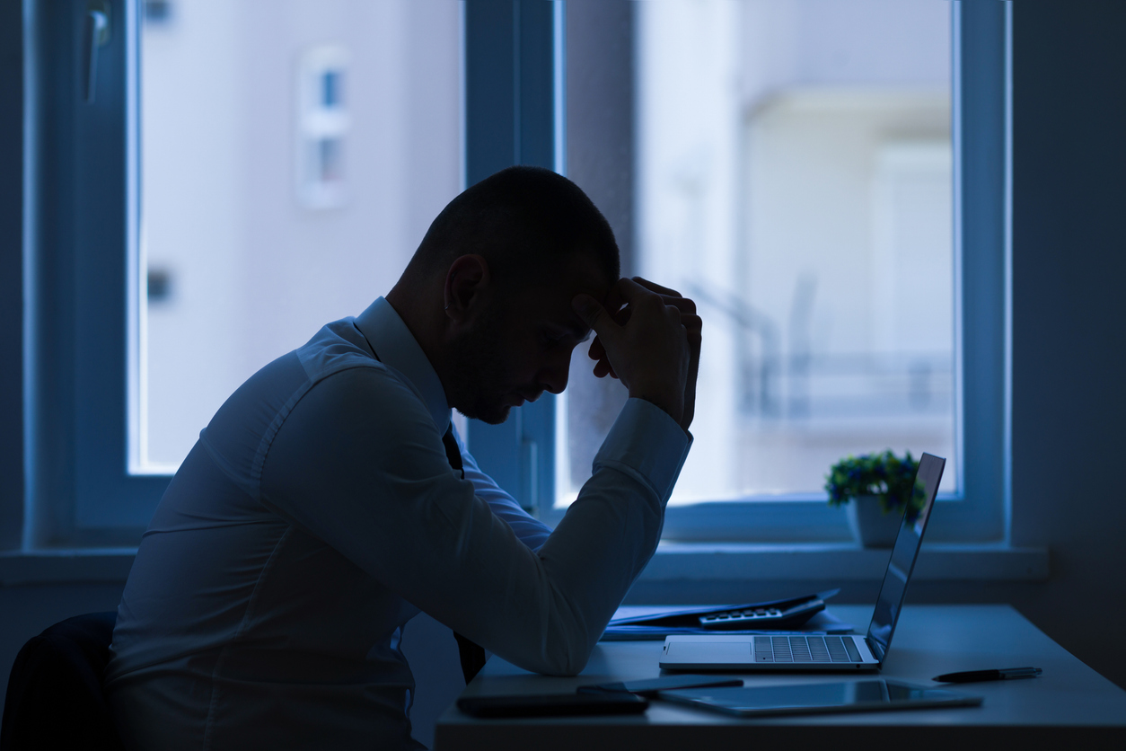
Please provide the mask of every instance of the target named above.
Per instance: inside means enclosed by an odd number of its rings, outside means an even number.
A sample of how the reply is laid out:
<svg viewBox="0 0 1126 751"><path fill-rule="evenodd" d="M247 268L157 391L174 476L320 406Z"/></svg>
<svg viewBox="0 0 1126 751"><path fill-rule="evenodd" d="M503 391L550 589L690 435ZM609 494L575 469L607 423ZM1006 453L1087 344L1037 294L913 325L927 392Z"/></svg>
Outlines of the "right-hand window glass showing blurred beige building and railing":
<svg viewBox="0 0 1126 751"><path fill-rule="evenodd" d="M633 272L705 319L673 502L823 493L835 461L885 448L947 457L955 490L949 3L668 0L627 16L623 244ZM581 65L584 33L568 34ZM563 502L624 396L583 357L572 379Z"/></svg>

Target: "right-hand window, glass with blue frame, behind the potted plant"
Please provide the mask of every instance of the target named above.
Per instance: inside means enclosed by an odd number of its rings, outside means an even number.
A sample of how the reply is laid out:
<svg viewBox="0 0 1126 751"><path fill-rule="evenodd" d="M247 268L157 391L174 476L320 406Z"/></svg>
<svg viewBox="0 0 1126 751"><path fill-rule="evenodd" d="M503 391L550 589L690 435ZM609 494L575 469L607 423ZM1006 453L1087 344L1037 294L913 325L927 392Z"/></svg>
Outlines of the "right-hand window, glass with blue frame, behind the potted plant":
<svg viewBox="0 0 1126 751"><path fill-rule="evenodd" d="M706 316L667 537L849 539L824 474L886 447L947 457L932 539L1004 536L1004 12L568 8L569 176ZM622 399L575 358L548 516Z"/></svg>

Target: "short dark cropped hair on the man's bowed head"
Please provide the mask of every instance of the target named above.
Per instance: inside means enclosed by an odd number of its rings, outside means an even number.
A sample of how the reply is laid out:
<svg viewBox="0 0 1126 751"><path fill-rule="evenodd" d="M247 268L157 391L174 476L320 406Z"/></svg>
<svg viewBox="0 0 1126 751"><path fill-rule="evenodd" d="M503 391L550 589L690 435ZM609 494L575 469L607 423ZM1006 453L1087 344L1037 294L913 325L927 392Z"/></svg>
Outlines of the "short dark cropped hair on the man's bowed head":
<svg viewBox="0 0 1126 751"><path fill-rule="evenodd" d="M432 275L476 253L499 279L526 279L589 253L607 284L620 274L609 222L571 180L540 167L509 167L467 188L430 224L408 274Z"/></svg>

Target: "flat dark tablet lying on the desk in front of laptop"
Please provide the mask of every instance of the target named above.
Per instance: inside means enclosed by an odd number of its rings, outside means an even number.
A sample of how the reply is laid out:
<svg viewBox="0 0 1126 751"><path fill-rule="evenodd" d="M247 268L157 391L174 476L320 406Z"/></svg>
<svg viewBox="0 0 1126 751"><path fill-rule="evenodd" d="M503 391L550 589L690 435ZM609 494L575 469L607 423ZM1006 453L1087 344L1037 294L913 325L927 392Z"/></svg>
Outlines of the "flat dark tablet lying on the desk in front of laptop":
<svg viewBox="0 0 1126 751"><path fill-rule="evenodd" d="M971 707L982 703L977 696L884 679L750 688L691 688L661 691L658 697L738 717Z"/></svg>

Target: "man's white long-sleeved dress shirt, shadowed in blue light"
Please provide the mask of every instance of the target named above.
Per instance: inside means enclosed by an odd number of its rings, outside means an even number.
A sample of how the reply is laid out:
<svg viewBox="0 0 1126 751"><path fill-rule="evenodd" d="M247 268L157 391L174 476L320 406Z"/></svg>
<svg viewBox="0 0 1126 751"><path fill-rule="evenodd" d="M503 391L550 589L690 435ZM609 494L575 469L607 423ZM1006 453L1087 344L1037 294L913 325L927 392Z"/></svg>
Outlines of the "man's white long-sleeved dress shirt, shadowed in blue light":
<svg viewBox="0 0 1126 751"><path fill-rule="evenodd" d="M234 392L118 608L106 691L127 748L415 748L399 644L419 610L521 668L583 668L655 549L688 437L631 399L552 533L461 442L452 470L449 422L383 298Z"/></svg>

